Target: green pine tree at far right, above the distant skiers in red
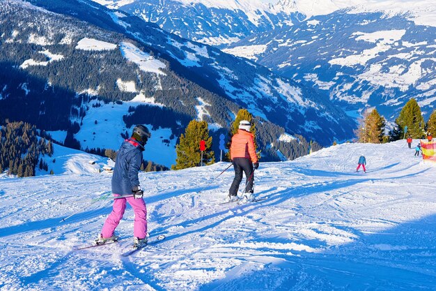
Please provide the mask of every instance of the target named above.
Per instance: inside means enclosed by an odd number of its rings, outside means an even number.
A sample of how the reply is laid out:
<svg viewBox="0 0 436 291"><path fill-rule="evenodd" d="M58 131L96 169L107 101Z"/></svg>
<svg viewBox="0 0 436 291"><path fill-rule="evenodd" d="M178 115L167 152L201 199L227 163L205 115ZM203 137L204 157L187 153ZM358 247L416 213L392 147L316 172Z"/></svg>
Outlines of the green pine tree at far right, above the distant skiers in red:
<svg viewBox="0 0 436 291"><path fill-rule="evenodd" d="M401 139L404 137L405 126L407 126L407 135L410 135L412 138L423 137L424 119L421 114L421 108L414 98L406 103L395 122L399 133L397 138Z"/></svg>

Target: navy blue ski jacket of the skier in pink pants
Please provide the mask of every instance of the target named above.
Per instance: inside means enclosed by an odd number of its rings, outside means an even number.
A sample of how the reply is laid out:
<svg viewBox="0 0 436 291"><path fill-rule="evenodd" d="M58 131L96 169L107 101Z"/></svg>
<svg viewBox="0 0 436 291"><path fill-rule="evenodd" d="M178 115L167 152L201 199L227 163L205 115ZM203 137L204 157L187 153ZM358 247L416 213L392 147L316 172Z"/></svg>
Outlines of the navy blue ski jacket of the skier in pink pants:
<svg viewBox="0 0 436 291"><path fill-rule="evenodd" d="M112 193L132 194L134 186L139 187L138 172L142 163L143 147L136 140L129 138L121 144L112 176Z"/></svg>

